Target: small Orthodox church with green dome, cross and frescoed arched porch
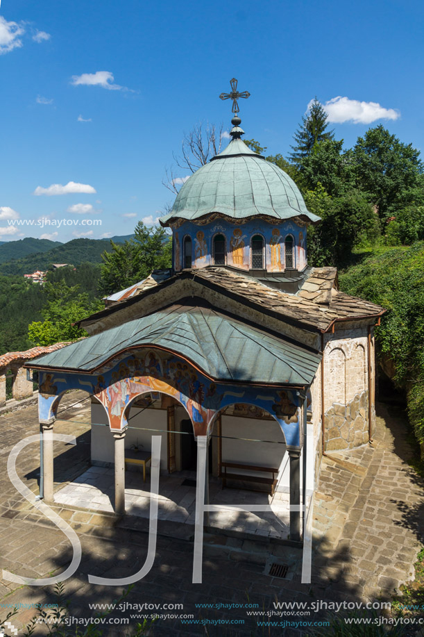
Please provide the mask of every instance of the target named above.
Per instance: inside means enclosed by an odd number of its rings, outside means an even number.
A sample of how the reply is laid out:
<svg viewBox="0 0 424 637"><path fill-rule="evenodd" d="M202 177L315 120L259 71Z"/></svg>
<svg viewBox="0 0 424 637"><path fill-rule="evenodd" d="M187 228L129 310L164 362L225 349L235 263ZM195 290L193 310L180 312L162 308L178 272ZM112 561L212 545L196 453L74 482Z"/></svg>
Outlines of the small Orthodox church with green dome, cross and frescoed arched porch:
<svg viewBox="0 0 424 637"><path fill-rule="evenodd" d="M341 292L334 267L308 265L319 217L244 144L233 104L228 146L160 220L172 231L171 269L108 297L80 322L87 338L28 363L40 376L44 499L60 397L78 388L92 399L92 463L115 466L117 513L131 449L149 454L158 433L167 476L196 469L203 439L207 481L287 494L296 541L322 454L373 436L373 328L384 311Z"/></svg>

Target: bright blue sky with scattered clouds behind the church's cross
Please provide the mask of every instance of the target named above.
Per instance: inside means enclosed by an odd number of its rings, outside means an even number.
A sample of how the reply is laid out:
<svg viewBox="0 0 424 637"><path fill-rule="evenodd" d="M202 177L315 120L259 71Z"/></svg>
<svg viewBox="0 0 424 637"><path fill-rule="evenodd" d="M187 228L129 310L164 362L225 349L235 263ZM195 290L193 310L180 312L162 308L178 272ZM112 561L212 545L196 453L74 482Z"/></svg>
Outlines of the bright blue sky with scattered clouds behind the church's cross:
<svg viewBox="0 0 424 637"><path fill-rule="evenodd" d="M267 153L289 152L315 95L346 147L382 123L424 149L423 3L237 4L1 0L0 240L153 222L173 200L162 180L183 133L229 129L218 96L233 76L251 92L246 138ZM49 226L8 223L42 217Z"/></svg>

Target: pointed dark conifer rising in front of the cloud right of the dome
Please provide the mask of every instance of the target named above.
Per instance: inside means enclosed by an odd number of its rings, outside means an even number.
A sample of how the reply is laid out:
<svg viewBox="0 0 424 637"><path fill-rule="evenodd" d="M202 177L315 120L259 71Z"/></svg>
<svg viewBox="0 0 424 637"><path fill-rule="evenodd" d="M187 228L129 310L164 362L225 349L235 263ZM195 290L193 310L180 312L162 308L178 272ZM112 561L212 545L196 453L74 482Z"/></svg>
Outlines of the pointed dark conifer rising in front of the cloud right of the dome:
<svg viewBox="0 0 424 637"><path fill-rule="evenodd" d="M315 97L307 117L302 117L302 123L293 135L296 146L291 146L294 152L290 159L294 164L299 165L304 157L312 154L319 142L334 139L334 131L325 130L328 127L327 118L322 104Z"/></svg>

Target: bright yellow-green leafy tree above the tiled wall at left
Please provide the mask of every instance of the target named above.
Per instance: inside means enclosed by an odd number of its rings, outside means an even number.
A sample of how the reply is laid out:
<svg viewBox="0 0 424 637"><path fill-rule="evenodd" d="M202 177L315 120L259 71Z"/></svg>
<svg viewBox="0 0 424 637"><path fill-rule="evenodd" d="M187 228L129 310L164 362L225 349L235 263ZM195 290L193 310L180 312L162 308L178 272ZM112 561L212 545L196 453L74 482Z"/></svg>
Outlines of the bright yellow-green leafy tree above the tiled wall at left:
<svg viewBox="0 0 424 637"><path fill-rule="evenodd" d="M48 303L42 310L43 321L28 326L28 339L34 345L53 345L62 340L75 340L87 336L76 322L103 308L99 299L90 300L87 292L79 292L79 286L69 287L65 281L46 283Z"/></svg>

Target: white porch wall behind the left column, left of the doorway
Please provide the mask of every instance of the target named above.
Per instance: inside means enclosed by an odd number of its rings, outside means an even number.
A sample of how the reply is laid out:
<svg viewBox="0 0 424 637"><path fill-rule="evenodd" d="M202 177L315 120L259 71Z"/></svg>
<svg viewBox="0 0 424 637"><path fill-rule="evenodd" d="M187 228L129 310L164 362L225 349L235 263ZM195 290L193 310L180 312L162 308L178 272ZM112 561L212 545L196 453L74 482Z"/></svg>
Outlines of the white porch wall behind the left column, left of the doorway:
<svg viewBox="0 0 424 637"><path fill-rule="evenodd" d="M134 416L134 417L133 417ZM151 437L161 436L162 443L160 445L160 471L167 473L167 411L165 409L143 409L133 407L130 409L128 420L128 429L125 436L125 447L129 449L130 445L143 445L143 451L151 451ZM105 410L102 405L92 404L92 423L107 422ZM162 429L164 431L155 433L155 431L143 431L146 429ZM114 438L108 427L102 427L99 424L92 424L92 462L114 463Z"/></svg>

